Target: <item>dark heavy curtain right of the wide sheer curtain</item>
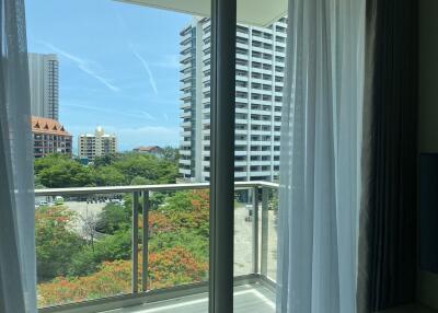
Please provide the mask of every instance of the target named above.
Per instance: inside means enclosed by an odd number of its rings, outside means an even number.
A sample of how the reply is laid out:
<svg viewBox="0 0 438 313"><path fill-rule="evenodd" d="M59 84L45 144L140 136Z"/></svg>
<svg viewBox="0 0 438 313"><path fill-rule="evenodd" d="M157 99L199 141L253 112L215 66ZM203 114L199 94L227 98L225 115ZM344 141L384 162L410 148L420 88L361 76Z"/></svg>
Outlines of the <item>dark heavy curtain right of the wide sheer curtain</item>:
<svg viewBox="0 0 438 313"><path fill-rule="evenodd" d="M417 1L368 0L358 312L415 300Z"/></svg>

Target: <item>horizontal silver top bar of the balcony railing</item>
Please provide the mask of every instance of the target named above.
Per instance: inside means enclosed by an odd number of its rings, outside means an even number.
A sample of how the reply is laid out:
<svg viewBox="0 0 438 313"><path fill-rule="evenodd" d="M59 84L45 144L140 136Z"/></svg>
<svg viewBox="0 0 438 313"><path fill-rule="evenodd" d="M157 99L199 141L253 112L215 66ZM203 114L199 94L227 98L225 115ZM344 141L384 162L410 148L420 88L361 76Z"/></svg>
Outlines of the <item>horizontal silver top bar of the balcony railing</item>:
<svg viewBox="0 0 438 313"><path fill-rule="evenodd" d="M35 196L58 196L58 195L90 195L90 194L118 194L134 192L173 192L189 189L207 189L209 183L189 183L189 184L162 184L162 185L136 185L136 186L105 186L105 187L73 187L73 188L47 188L35 189ZM270 182L235 182L235 188L253 187L278 188L277 183Z"/></svg>

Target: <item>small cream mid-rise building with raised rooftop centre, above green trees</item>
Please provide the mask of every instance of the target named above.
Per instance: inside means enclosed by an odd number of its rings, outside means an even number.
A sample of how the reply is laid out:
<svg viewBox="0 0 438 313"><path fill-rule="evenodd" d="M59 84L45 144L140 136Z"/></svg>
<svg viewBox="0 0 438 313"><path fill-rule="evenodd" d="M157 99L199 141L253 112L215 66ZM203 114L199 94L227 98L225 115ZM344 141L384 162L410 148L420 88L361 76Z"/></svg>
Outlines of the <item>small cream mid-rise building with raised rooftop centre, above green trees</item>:
<svg viewBox="0 0 438 313"><path fill-rule="evenodd" d="M105 134L102 127L97 127L94 134L79 136L79 158L94 161L96 156L103 156L117 152L117 137Z"/></svg>

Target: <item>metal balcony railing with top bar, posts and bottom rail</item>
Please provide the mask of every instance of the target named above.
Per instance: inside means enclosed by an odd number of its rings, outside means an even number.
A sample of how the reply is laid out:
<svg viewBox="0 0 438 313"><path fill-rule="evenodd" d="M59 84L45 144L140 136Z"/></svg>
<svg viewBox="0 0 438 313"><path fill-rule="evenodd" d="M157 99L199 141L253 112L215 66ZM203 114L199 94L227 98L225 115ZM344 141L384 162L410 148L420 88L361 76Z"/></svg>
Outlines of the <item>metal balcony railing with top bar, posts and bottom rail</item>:
<svg viewBox="0 0 438 313"><path fill-rule="evenodd" d="M276 225L273 218L273 202L269 197L277 193L278 184L269 182L235 182L237 193L250 190L251 205L240 208L239 220L234 228L245 228L242 233L247 232L251 247L244 246L245 253L251 250L251 268L242 270L234 266L235 285L260 282L274 290L276 279ZM161 300L180 298L207 291L207 281L195 281L181 286L166 287L151 290L149 288L149 215L151 212L150 196L153 193L174 193L182 190L208 189L208 183L196 184L166 184L166 185L140 185L140 186L108 186L108 187L81 187L81 188L51 188L37 189L35 197L55 199L57 196L76 198L90 198L90 196L102 197L105 195L130 194L131 206L131 277L130 293L110 294L105 298L85 300L72 303L60 303L55 306L39 309L39 312L99 312L113 310L127 305L150 303ZM83 200L83 199L82 199ZM244 200L247 202L247 199ZM140 219L139 209L142 210ZM244 221L243 221L244 217ZM239 223L239 225L238 225ZM141 233L141 235L140 235ZM38 235L38 234L37 234ZM140 245L141 239L141 245ZM165 243L163 243L165 244ZM237 245L234 240L234 245ZM139 247L140 246L140 247ZM242 248L234 251L235 263L245 262L245 255L237 257ZM141 264L139 263L141 262ZM240 265L242 266L242 265ZM142 270L140 270L142 269ZM141 273L140 273L141 271ZM140 282L140 283L139 283ZM78 311L79 310L79 311Z"/></svg>

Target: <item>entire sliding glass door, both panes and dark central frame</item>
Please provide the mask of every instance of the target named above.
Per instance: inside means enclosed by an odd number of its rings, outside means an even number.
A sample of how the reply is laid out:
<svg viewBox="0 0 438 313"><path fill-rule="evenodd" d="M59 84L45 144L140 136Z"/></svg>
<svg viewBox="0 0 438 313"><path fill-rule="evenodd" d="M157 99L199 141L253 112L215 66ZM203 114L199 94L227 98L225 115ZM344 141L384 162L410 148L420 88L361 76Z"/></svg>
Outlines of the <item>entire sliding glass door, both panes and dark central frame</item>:
<svg viewBox="0 0 438 313"><path fill-rule="evenodd" d="M26 1L39 308L274 310L287 20L239 3Z"/></svg>

